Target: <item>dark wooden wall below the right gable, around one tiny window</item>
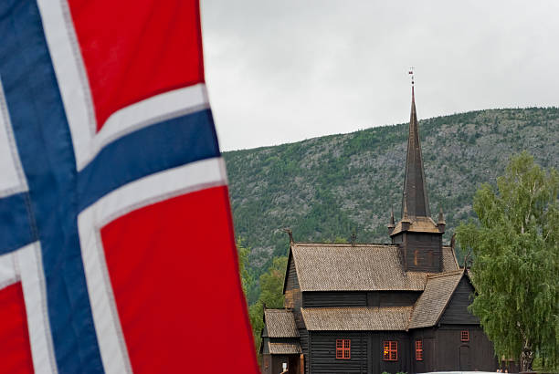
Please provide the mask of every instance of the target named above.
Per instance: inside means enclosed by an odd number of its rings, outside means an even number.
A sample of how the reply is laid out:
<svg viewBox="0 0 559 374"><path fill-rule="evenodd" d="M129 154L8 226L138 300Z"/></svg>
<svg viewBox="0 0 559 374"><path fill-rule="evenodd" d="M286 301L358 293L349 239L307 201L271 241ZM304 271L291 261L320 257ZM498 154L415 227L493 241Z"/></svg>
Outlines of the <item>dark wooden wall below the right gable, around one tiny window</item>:
<svg viewBox="0 0 559 374"><path fill-rule="evenodd" d="M469 331L469 341L461 341L461 332ZM436 331L436 370L495 371L493 345L481 327L472 325L442 325Z"/></svg>

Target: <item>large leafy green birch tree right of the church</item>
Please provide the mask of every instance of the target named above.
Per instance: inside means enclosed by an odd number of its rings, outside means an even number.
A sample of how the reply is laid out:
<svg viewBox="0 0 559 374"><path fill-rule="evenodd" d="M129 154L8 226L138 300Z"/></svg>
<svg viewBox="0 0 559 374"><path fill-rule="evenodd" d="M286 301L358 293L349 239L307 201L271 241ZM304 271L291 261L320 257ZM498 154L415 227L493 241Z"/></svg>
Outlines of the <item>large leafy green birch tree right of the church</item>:
<svg viewBox="0 0 559 374"><path fill-rule="evenodd" d="M457 239L473 252L476 295L470 310L497 355L534 355L557 363L559 346L559 174L527 152L512 157L497 188L482 184L473 209L479 223L460 224Z"/></svg>

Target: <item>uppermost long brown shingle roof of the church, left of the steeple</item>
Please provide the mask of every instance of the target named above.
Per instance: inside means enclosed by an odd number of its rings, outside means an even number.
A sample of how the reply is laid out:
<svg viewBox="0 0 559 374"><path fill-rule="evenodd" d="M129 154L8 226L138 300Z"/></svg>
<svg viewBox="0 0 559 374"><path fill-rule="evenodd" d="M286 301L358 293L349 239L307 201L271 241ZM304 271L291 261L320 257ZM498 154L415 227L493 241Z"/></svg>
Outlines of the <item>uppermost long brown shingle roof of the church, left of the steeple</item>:
<svg viewBox="0 0 559 374"><path fill-rule="evenodd" d="M291 245L301 291L422 291L427 273L405 272L394 244Z"/></svg>

